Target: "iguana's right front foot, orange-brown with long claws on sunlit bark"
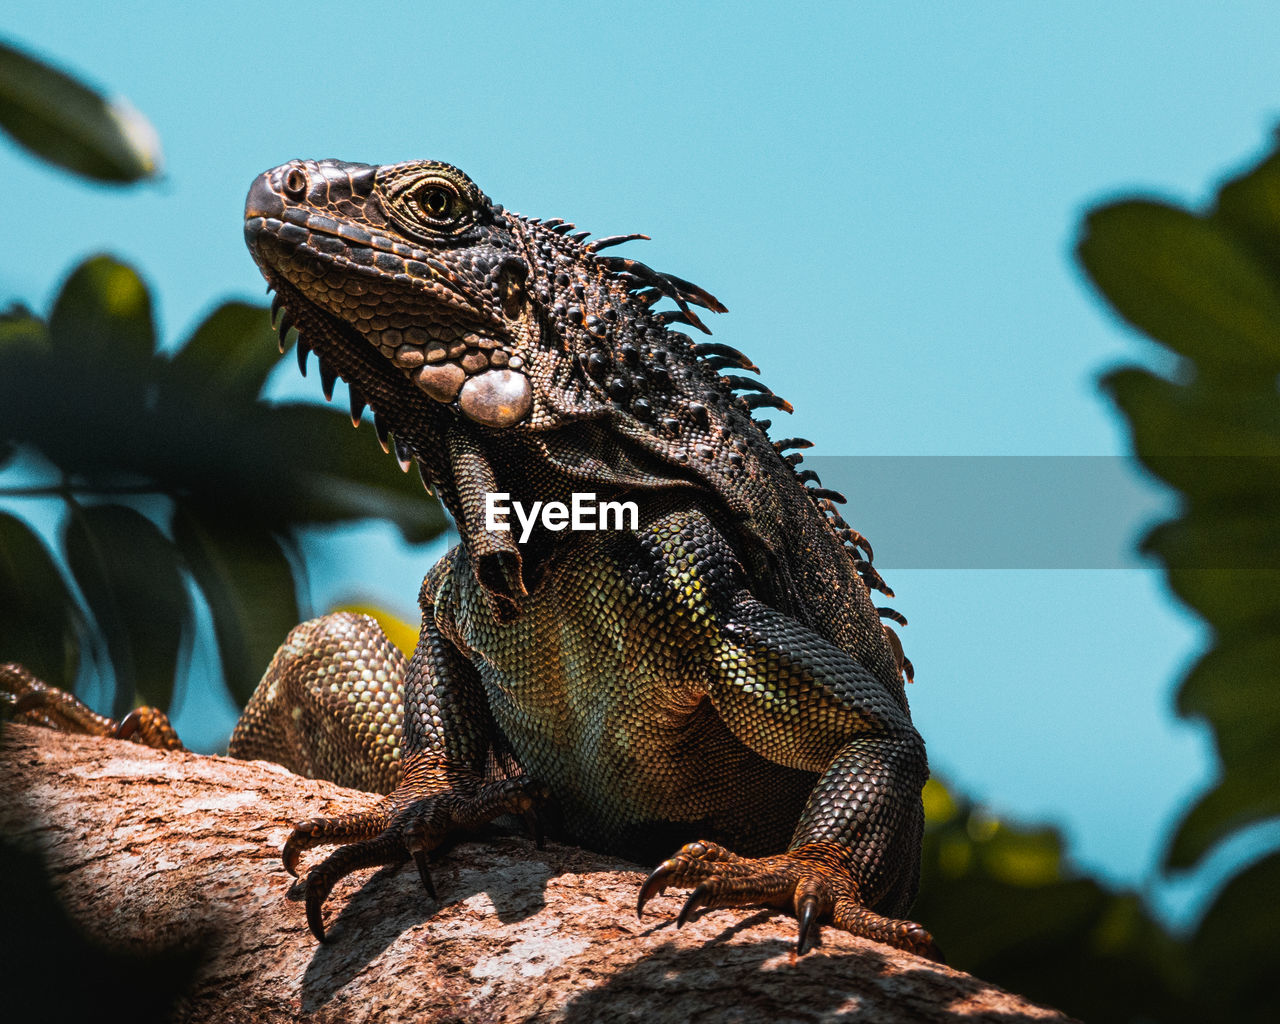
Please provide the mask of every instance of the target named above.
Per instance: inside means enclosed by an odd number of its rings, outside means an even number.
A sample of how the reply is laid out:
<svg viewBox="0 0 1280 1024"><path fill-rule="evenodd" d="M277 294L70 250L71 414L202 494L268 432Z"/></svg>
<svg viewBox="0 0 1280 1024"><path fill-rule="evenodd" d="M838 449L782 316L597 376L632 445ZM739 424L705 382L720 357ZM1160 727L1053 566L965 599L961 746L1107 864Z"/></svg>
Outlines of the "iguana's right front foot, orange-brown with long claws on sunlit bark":
<svg viewBox="0 0 1280 1024"><path fill-rule="evenodd" d="M829 922L855 936L943 963L933 937L910 920L886 918L864 906L858 883L845 867L847 852L833 844L813 842L785 854L739 856L714 842L690 842L645 879L636 915L667 886L692 886L676 918L678 928L699 908L778 906L800 922L796 943L803 956L818 938L818 923Z"/></svg>

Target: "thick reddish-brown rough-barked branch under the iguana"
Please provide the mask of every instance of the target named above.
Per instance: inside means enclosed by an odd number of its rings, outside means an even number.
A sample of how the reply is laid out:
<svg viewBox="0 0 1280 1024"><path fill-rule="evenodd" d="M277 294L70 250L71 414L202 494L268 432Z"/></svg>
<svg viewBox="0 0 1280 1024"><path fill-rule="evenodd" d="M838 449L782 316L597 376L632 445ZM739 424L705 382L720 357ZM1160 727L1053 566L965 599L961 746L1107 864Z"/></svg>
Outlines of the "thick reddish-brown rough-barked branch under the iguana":
<svg viewBox="0 0 1280 1024"><path fill-rule="evenodd" d="M44 858L90 937L202 946L182 1021L1065 1021L977 978L833 929L796 959L788 916L681 896L644 920L643 870L503 836L445 852L434 905L412 867L347 879L317 946L279 849L292 822L369 794L265 762L10 726L0 829Z"/></svg>

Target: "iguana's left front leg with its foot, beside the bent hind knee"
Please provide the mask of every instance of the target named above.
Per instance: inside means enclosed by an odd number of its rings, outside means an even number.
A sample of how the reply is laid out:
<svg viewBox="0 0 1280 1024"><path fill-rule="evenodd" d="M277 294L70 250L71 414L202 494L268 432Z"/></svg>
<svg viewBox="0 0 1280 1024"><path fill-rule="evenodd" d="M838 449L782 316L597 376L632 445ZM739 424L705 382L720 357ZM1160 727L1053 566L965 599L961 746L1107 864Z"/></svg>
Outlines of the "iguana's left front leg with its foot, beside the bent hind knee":
<svg viewBox="0 0 1280 1024"><path fill-rule="evenodd" d="M502 814L522 814L532 824L534 808L545 797L543 787L520 774L504 751L475 668L440 634L433 611L424 605L417 649L404 669L402 707L397 701L404 753L394 788L372 812L300 822L282 851L285 868L296 873L303 850L342 844L303 882L307 923L320 941L325 938L324 902L351 872L412 858L424 888L435 899L428 868L431 850ZM298 667L316 660L314 652L282 649L282 654ZM401 687L396 691L398 698ZM326 721L342 714L361 722L370 718L367 708L349 710L344 694L325 703L332 705ZM246 719L252 708L253 701Z"/></svg>

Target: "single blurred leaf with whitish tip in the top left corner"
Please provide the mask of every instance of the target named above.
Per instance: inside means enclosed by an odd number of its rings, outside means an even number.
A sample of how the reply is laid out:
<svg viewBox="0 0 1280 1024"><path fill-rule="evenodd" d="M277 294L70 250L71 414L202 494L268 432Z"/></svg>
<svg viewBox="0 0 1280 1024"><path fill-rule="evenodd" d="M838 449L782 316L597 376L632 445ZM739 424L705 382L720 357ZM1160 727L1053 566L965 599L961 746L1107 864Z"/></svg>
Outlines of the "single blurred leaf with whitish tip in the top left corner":
<svg viewBox="0 0 1280 1024"><path fill-rule="evenodd" d="M155 129L128 102L4 42L0 128L36 156L101 182L136 182L160 168Z"/></svg>

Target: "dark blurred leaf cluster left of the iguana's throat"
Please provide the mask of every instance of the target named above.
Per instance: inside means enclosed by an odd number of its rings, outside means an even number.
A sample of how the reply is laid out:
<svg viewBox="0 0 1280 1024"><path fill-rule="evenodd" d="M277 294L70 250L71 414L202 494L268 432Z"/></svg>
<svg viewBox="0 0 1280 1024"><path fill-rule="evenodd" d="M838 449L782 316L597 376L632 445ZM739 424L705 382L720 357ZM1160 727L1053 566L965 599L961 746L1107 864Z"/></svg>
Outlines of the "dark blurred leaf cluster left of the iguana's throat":
<svg viewBox="0 0 1280 1024"><path fill-rule="evenodd" d="M300 617L300 526L381 517L411 541L443 527L417 479L346 412L261 401L275 361L266 310L239 302L157 352L146 285L106 256L70 274L47 321L0 316L0 456L22 445L59 479L10 493L65 504L61 554L91 616L36 535L5 516L0 609L14 611L0 617L0 660L70 684L84 645L110 659L116 716L138 699L165 707L193 581L243 701Z"/></svg>

